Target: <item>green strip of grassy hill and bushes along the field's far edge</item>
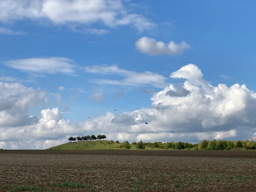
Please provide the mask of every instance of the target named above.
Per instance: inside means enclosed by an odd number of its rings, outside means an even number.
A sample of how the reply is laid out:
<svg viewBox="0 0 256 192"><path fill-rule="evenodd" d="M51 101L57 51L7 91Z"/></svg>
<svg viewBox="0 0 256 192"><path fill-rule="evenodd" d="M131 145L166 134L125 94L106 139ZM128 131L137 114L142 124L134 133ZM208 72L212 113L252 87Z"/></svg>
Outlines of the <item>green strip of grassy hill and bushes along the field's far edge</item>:
<svg viewBox="0 0 256 192"><path fill-rule="evenodd" d="M128 141L120 143L118 140L87 140L64 143L46 150L97 150L97 149L172 149L172 150L255 150L256 142L246 141L229 141L229 140L203 140L200 143L188 142L132 142Z"/></svg>

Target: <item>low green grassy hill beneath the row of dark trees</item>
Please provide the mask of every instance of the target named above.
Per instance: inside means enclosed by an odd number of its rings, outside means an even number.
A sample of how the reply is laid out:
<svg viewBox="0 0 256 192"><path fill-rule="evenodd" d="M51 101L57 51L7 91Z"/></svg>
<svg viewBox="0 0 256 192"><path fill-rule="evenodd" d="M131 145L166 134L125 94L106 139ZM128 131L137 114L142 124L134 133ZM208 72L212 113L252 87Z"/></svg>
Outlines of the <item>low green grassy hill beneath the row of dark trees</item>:
<svg viewBox="0 0 256 192"><path fill-rule="evenodd" d="M96 150L96 149L124 149L120 148L122 143L116 143L109 140L97 140L97 141L79 141L64 143L46 150ZM131 149L136 149L134 145L131 145Z"/></svg>

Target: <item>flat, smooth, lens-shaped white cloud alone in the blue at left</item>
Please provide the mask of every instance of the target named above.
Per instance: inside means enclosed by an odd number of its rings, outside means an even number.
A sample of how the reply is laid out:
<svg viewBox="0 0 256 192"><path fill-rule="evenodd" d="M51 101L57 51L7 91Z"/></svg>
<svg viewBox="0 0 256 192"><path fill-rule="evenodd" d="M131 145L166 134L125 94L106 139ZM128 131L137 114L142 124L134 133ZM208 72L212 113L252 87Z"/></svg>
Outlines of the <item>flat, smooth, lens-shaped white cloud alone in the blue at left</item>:
<svg viewBox="0 0 256 192"><path fill-rule="evenodd" d="M74 75L75 61L64 57L29 58L5 61L8 67L34 73L62 73Z"/></svg>

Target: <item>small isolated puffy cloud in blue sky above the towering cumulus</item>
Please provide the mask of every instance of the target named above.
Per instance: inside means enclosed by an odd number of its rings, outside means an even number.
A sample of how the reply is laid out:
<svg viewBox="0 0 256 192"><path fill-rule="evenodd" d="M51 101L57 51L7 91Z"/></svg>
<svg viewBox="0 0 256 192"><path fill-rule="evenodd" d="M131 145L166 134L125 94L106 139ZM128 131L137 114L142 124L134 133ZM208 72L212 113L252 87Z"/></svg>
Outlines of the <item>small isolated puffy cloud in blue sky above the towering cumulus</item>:
<svg viewBox="0 0 256 192"><path fill-rule="evenodd" d="M149 55L177 55L182 53L184 49L189 48L189 45L185 41L182 41L180 44L175 44L174 41L164 44L162 41L156 42L153 38L141 37L135 43L135 47L140 52L148 53Z"/></svg>

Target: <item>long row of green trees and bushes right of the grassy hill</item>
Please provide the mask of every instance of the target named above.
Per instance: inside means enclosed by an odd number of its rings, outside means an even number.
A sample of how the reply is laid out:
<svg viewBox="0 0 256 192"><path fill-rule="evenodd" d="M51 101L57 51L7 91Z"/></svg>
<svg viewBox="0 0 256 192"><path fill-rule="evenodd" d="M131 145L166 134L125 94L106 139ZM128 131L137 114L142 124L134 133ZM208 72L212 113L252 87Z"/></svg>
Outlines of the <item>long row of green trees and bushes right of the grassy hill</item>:
<svg viewBox="0 0 256 192"><path fill-rule="evenodd" d="M231 149L256 149L256 142L253 140L249 141L230 141L230 140L203 140L200 143L188 143L188 142L132 142L136 148L161 148L161 149L194 149L194 150L231 150ZM123 148L131 148L128 141L123 142Z"/></svg>

